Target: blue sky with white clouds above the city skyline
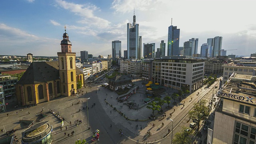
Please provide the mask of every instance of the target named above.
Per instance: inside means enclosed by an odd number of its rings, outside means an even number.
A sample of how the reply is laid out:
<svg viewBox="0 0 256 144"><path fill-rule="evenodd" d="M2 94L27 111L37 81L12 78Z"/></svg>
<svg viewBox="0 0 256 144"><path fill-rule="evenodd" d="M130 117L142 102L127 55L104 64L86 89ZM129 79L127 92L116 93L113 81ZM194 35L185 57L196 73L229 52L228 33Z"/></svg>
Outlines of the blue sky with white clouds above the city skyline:
<svg viewBox="0 0 256 144"><path fill-rule="evenodd" d="M112 41L127 50L127 23L134 9L143 43L167 42L168 26L180 29L180 46L198 38L222 36L228 54L256 52L255 0L2 0L0 55L57 56L66 32L72 52L112 54ZM143 46L142 46L143 48ZM234 50L237 49L237 50ZM167 51L167 45L166 45Z"/></svg>

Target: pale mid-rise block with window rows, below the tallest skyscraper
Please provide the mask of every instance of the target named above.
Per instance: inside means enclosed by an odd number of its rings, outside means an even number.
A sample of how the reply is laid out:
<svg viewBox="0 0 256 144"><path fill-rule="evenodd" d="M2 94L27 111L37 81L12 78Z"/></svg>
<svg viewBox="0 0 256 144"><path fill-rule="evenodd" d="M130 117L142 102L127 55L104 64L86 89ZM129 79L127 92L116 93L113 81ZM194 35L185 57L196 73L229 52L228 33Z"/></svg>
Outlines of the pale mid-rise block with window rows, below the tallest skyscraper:
<svg viewBox="0 0 256 144"><path fill-rule="evenodd" d="M132 78L141 78L141 65L140 60L123 60L120 63L120 71Z"/></svg>

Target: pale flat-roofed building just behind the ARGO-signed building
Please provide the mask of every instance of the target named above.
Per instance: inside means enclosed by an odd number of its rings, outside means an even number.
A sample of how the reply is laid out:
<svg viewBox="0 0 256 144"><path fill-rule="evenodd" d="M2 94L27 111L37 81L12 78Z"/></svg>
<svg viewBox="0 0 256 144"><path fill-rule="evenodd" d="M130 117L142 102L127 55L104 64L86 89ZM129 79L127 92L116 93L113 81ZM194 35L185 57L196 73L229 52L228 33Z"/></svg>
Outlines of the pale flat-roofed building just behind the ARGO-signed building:
<svg viewBox="0 0 256 144"><path fill-rule="evenodd" d="M254 69L256 69L256 62L252 60L236 60L228 64L223 64L223 84L230 78L231 74L244 74L252 76Z"/></svg>

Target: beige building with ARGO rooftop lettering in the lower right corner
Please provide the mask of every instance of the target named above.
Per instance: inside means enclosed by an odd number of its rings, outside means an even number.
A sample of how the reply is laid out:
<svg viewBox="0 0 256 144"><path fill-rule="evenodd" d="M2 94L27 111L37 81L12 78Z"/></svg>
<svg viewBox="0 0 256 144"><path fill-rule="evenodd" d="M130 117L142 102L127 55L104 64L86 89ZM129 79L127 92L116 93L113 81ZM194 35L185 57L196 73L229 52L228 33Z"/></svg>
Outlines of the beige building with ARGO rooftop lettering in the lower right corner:
<svg viewBox="0 0 256 144"><path fill-rule="evenodd" d="M220 87L212 144L256 144L256 76L253 71L254 75L250 76L232 72Z"/></svg>

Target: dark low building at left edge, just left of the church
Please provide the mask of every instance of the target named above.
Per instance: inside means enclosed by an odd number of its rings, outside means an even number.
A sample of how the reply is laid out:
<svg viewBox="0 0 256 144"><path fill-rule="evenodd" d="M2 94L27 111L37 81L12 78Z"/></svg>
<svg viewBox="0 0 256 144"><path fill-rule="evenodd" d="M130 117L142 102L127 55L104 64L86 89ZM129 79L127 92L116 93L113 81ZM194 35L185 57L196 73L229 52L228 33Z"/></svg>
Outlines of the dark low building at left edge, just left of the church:
<svg viewBox="0 0 256 144"><path fill-rule="evenodd" d="M18 77L0 75L0 85L4 88L5 98L11 99L16 95L16 82L18 82Z"/></svg>

